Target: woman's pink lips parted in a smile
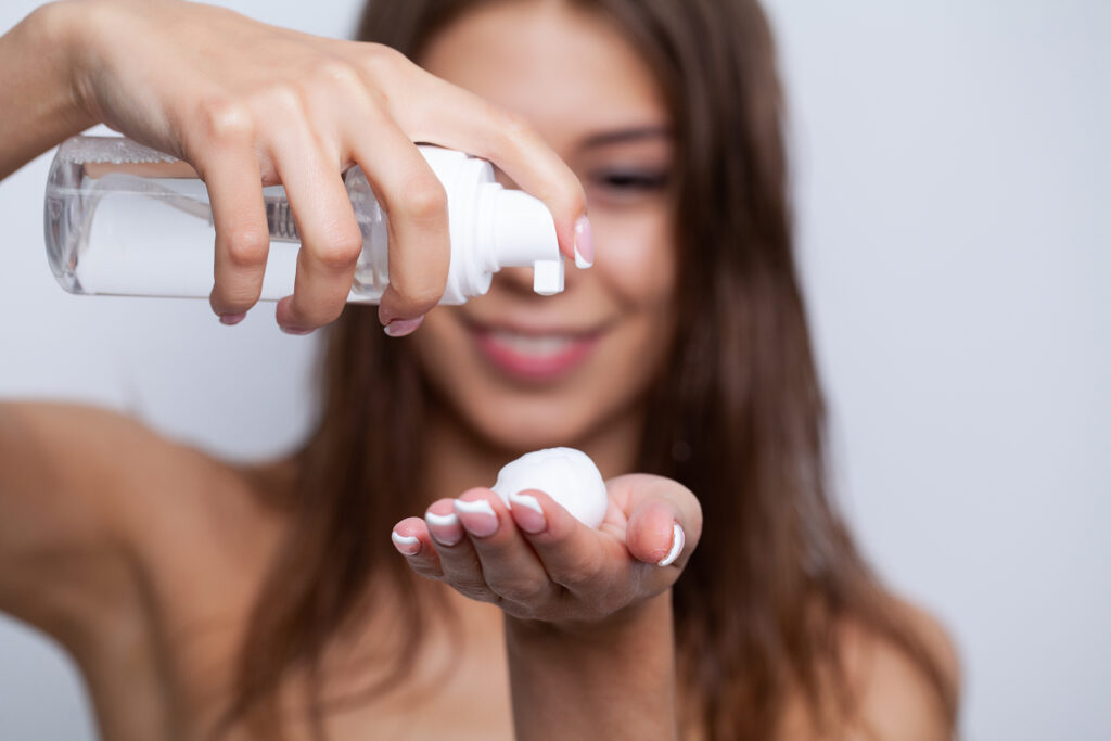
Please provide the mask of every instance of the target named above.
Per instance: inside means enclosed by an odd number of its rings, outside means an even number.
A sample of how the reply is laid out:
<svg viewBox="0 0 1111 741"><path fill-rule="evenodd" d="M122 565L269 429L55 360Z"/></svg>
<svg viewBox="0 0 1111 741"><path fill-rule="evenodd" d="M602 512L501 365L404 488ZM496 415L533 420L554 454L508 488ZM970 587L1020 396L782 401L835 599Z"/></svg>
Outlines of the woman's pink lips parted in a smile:
<svg viewBox="0 0 1111 741"><path fill-rule="evenodd" d="M476 344L482 356L500 372L528 382L554 381L578 368L594 349L599 332L589 334L562 332L533 332L520 330L499 331L488 327L471 326ZM507 340L506 333L519 336L529 341L550 338L558 348L522 348Z"/></svg>

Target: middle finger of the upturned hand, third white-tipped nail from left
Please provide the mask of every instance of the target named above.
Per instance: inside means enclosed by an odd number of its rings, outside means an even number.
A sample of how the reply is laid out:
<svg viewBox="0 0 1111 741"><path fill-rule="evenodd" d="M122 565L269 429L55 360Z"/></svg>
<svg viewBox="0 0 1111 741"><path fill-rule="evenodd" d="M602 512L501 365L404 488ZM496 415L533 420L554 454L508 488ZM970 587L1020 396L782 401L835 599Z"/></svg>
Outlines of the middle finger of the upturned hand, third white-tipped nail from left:
<svg viewBox="0 0 1111 741"><path fill-rule="evenodd" d="M528 612L518 617L542 608L553 597L554 587L501 498L490 489L471 489L454 505L490 590L527 608Z"/></svg>

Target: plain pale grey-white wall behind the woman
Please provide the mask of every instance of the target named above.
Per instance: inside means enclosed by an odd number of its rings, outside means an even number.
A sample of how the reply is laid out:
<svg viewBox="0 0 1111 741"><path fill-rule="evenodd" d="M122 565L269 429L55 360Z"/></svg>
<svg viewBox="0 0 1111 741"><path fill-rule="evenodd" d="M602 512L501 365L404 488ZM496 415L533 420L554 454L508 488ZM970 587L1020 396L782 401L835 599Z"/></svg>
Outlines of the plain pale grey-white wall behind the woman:
<svg viewBox="0 0 1111 741"><path fill-rule="evenodd" d="M6 0L0 29L36 4ZM342 36L359 1L226 4ZM955 634L968 738L1111 738L1111 3L768 6L860 539ZM48 162L0 182L0 394L130 410L229 455L293 444L313 341L270 308L229 329L202 301L63 293ZM0 739L91 738L67 660L0 619Z"/></svg>

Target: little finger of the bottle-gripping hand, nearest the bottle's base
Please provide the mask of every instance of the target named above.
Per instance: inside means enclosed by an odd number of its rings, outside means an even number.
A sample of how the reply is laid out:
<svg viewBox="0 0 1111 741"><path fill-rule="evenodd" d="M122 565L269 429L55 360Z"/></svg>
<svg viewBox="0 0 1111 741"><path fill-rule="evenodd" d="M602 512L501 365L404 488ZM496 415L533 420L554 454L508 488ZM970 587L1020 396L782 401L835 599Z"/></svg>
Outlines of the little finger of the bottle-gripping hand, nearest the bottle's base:
<svg viewBox="0 0 1111 741"><path fill-rule="evenodd" d="M262 176L246 137L207 149L198 164L216 226L214 283L209 304L220 321L234 324L259 300L270 251Z"/></svg>

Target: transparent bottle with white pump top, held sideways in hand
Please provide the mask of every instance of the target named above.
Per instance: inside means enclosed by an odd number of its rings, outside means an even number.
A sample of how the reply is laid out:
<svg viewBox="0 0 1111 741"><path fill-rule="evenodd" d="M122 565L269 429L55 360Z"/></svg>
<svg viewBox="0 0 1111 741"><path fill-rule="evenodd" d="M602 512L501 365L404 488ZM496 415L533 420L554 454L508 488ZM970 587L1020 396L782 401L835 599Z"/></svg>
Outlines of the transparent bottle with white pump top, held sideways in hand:
<svg viewBox="0 0 1111 741"><path fill-rule="evenodd" d="M486 160L422 146L448 193L451 262L441 303L462 303L509 266L533 269L533 290L563 290L563 258L548 208L494 181ZM349 302L377 303L389 281L386 213L362 170L343 177L362 231ZM263 188L270 252L263 301L293 292L300 239L286 191ZM73 137L47 179L47 256L72 293L208 298L216 229L208 189L188 162L122 137Z"/></svg>

